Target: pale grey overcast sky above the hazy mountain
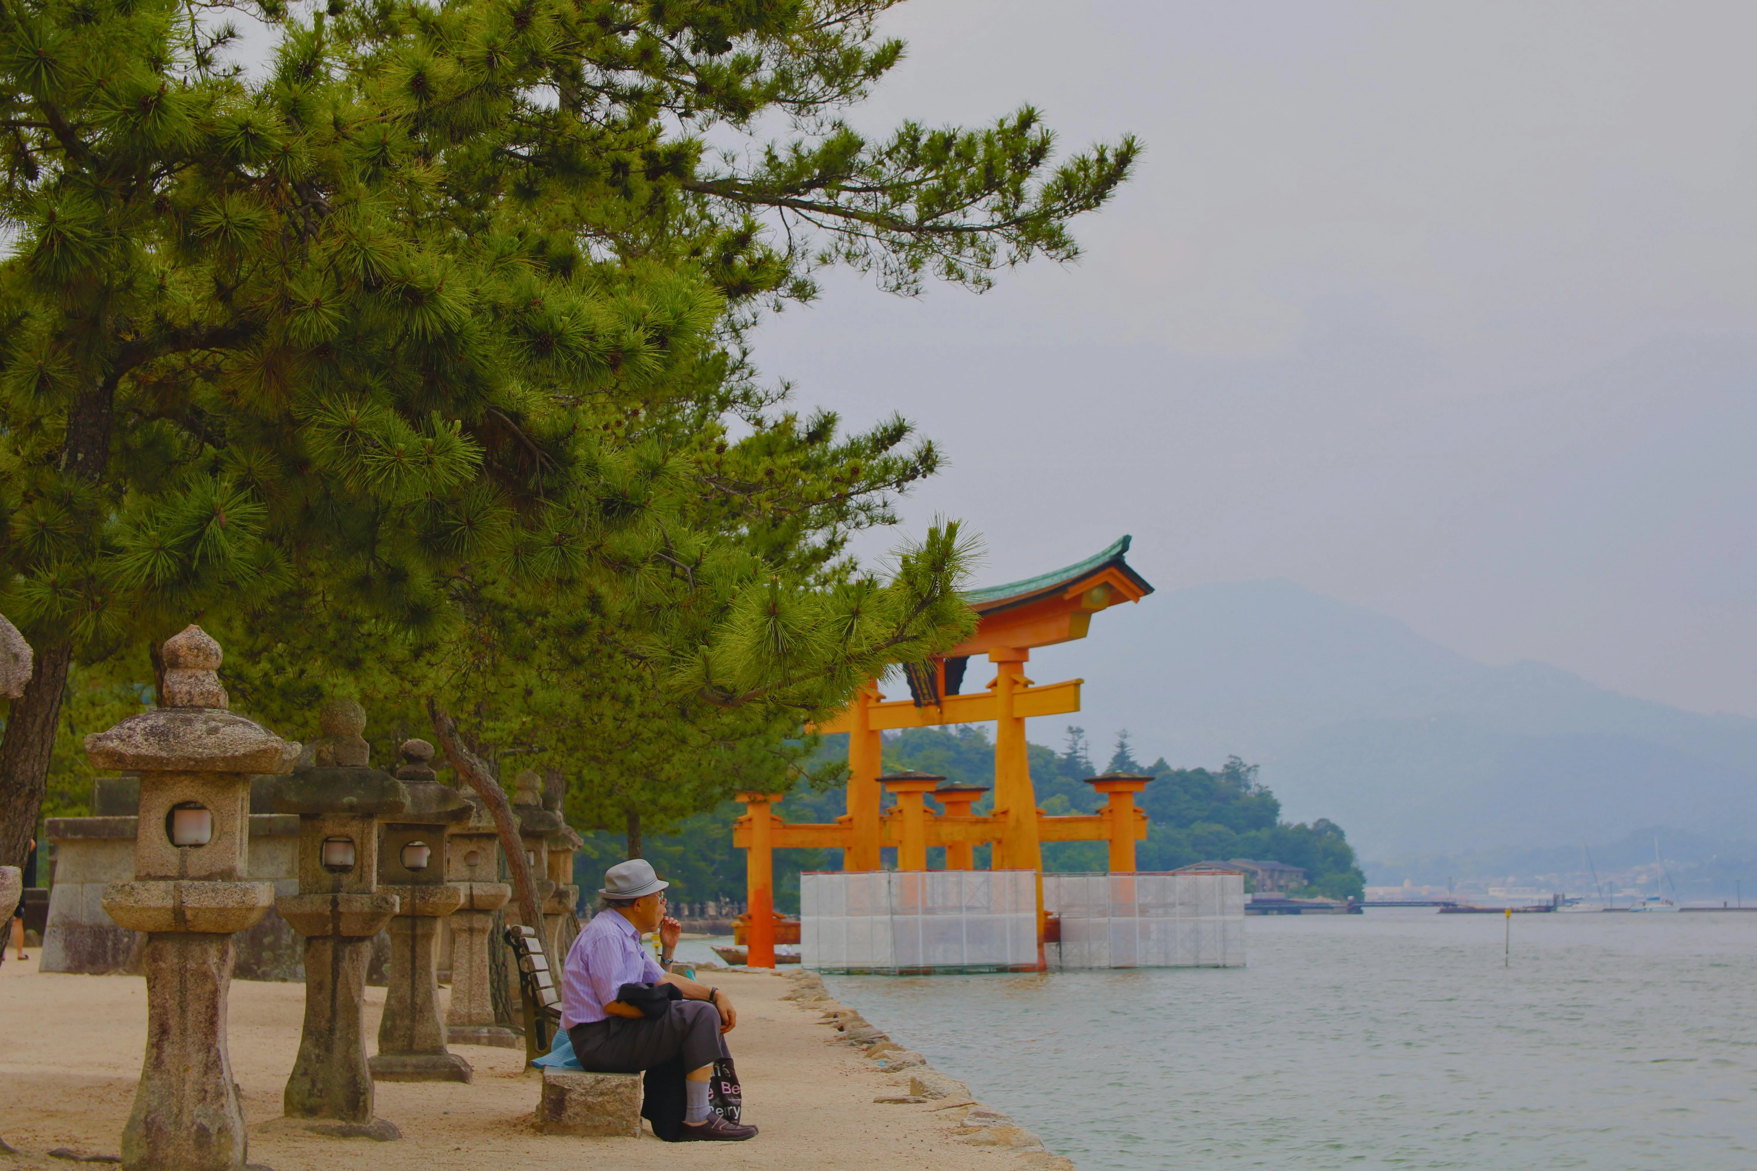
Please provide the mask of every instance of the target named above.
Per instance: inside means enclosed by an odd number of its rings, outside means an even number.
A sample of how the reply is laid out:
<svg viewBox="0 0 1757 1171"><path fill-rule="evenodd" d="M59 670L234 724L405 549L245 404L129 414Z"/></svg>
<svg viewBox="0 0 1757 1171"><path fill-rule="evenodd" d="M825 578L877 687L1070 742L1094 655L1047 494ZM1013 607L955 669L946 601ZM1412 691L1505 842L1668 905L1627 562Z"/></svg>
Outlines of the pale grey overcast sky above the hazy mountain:
<svg viewBox="0 0 1757 1171"><path fill-rule="evenodd" d="M889 28L863 126L1033 102L1068 149L1147 146L1079 265L835 279L761 332L801 406L944 446L910 527L980 530L982 583L1130 532L1161 590L1288 578L1757 716L1757 5L914 0ZM1126 614L1058 665L1102 672L1107 637Z"/></svg>

